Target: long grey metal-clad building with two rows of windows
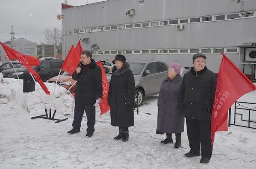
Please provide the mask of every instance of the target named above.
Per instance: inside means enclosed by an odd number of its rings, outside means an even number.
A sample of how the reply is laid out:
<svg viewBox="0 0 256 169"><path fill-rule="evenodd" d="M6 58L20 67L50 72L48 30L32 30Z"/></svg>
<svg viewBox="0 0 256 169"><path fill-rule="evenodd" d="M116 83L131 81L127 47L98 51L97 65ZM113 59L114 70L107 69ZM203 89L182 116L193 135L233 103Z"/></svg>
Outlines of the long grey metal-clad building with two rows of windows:
<svg viewBox="0 0 256 169"><path fill-rule="evenodd" d="M161 60L192 65L207 55L218 73L224 52L256 79L256 0L108 0L82 6L62 4L63 59L81 38L93 58ZM254 52L253 52L254 51ZM250 56L251 55L251 56ZM250 64L248 64L250 63Z"/></svg>

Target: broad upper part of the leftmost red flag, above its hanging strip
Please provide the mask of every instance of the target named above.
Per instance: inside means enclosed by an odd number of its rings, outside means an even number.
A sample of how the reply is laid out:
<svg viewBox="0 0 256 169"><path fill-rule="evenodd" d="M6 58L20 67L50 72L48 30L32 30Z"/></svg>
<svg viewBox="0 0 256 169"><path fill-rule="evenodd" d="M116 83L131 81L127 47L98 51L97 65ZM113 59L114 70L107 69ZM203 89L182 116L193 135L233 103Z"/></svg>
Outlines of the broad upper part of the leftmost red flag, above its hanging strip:
<svg viewBox="0 0 256 169"><path fill-rule="evenodd" d="M40 65L40 61L37 58L31 57L31 56L28 56L28 55L25 55L25 54L21 54L20 52L15 51L14 49L10 48L9 46L6 46L3 43L1 43L1 45L3 46L3 49L5 50L7 56L9 57L10 60L16 59L23 66L26 66L26 65L29 65L29 66Z"/></svg>

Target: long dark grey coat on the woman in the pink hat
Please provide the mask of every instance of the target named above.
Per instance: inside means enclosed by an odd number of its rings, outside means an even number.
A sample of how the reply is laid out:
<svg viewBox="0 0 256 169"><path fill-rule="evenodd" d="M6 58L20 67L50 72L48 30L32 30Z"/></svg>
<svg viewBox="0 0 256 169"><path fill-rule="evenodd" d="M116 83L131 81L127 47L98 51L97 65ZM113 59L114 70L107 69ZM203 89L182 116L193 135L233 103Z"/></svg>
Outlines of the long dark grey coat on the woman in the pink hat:
<svg viewBox="0 0 256 169"><path fill-rule="evenodd" d="M178 95L182 77L177 74L172 80L163 80L157 100L157 134L181 133L184 131L184 115L178 109Z"/></svg>

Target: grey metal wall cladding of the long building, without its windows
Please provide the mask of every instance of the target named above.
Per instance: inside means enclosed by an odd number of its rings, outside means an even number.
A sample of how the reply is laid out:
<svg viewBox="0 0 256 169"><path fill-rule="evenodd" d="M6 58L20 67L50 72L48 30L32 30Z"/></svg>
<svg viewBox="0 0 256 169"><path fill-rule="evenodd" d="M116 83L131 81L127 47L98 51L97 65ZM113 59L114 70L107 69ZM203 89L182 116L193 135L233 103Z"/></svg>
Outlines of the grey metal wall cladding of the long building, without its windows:
<svg viewBox="0 0 256 169"><path fill-rule="evenodd" d="M136 29L121 29L81 34L67 34L69 29L93 28L128 23L172 20L191 17L212 16L240 11L255 11L256 0L108 0L62 10L62 53L65 57L71 45L79 38L89 38L89 43L81 43L83 49L91 50L97 44L100 50L125 49L182 49L236 47L246 42L256 42L256 17L236 20L220 20L200 23L186 23L184 29L176 30L176 25L156 26ZM134 9L134 16L125 12ZM136 54L125 55L127 60L162 60L167 64L179 62L192 65L193 54ZM229 54L239 65L243 54ZM113 60L115 55L94 55L96 59ZM217 73L221 54L207 54L207 66Z"/></svg>

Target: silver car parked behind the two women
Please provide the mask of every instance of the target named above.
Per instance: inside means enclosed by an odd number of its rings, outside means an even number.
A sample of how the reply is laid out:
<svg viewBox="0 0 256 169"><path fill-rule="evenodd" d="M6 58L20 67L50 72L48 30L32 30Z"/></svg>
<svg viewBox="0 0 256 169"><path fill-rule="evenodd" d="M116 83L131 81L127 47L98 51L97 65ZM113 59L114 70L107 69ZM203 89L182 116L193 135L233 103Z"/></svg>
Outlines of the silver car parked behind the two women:
<svg viewBox="0 0 256 169"><path fill-rule="evenodd" d="M131 61L129 64L134 74L138 103L141 106L145 97L159 93L161 84L167 77L168 66L160 61ZM107 78L110 81L111 73L107 74ZM136 97L134 100L137 103Z"/></svg>

